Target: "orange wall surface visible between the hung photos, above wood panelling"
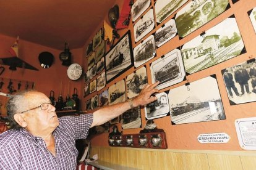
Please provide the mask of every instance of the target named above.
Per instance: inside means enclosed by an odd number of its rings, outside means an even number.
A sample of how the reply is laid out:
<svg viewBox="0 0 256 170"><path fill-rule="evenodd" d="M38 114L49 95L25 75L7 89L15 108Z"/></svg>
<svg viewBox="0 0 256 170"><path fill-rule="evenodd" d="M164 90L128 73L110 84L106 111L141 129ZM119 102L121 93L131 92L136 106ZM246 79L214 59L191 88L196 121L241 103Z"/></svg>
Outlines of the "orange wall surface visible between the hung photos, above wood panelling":
<svg viewBox="0 0 256 170"><path fill-rule="evenodd" d="M122 7L123 1L116 1L117 4L119 4L119 7ZM151 0L151 4L153 4L153 0ZM159 119L154 119L155 123L158 125L158 128L164 129L167 135L168 140L168 148L170 149L189 149L189 150L242 150L239 147L239 143L236 136L236 130L234 126L234 120L237 118L247 118L247 117L253 117L256 116L256 104L255 102L252 103L244 103L240 105L233 105L231 106L229 104L228 95L226 92L226 87L224 86L224 81L221 75L221 70L224 68L231 67L233 65L236 65L241 62L245 62L246 60L249 60L249 57L256 57L256 34L252 27L252 24L250 22L250 19L247 15L247 11L250 9L253 9L256 7L256 1L255 0L240 0L239 2L236 2L236 4L233 4L231 0L229 0L229 3L231 5L231 8L226 10L223 14L219 15L217 18L212 20L211 22L207 23L206 25L202 26L198 30L194 31L194 33L189 34L186 36L186 38L179 40L179 38L176 36L175 38L171 39L168 43L164 44L160 48L156 50L156 57L146 63L147 71L148 71L148 82L151 83L150 78L150 63L154 60L158 59L161 55L166 54L169 51L172 51L176 47L182 46L184 43L190 41L191 39L194 39L198 34L202 33L202 31L206 31L212 26L220 23L224 19L228 18L230 15L235 15L237 20L237 25L239 26L239 30L242 34L242 39L244 40L245 48L247 52L245 54L239 55L233 59L230 59L226 62L220 63L218 65L215 65L213 67L207 68L205 70L199 71L197 73L194 73L192 75L187 76L187 79L189 79L190 82L196 81L201 78L205 78L206 76L216 74L218 86L220 87L220 94L221 99L223 101L224 111L226 114L226 119L221 121L209 121L209 122L202 122L202 123L189 123L189 124L180 124L180 125L171 125L171 118L170 116L166 116ZM151 7L153 7L151 5ZM150 9L150 7L148 8ZM176 12L174 13L176 14ZM169 16L166 20L164 20L163 23L156 26L156 28L147 34L143 39L146 39L149 35L154 33L158 28L160 28L161 25L166 23L169 19L174 17L174 14ZM108 17L106 15L106 20L108 21ZM98 26L98 29L103 27L103 23L100 23ZM98 31L98 29L95 29ZM134 43L134 31L133 31L133 25L132 20L130 19L129 29L131 30L131 37L132 37L132 47L137 46L137 44ZM126 33L127 29L119 30L118 33L124 34ZM88 42L92 40L94 34L91 36L90 39L88 39L87 43L85 44L85 47L87 46ZM106 50L108 51L108 49ZM85 60L84 68L86 70L87 68L87 61ZM135 70L135 68L130 68L130 70L126 71L126 73L119 76L119 78L115 79L111 83L107 84L107 86L102 89L100 92L107 89L109 86L114 84L115 82L119 81L120 79L126 78L127 75L132 73ZM182 82L179 84L176 84L171 87L167 87L166 89L161 90L161 92L166 91L168 89L173 89L178 86L182 86L187 82ZM209 89L210 90L210 89ZM98 92L98 93L100 93ZM83 99L83 107L84 103L87 99L90 99L95 95L96 92L93 92L93 94L88 95L85 99ZM206 94L207 95L207 94ZM93 112L93 111L92 111ZM142 126L145 126L145 113L142 110ZM119 129L121 129L121 124L118 124ZM142 128L143 128L142 127ZM134 134L139 133L140 129L124 129L124 134ZM198 134L205 134L205 133L215 133L215 132L226 132L231 139L227 144L200 144L197 141ZM108 147L108 133L103 134L97 134L93 140L92 140L93 146L100 146L100 147Z"/></svg>

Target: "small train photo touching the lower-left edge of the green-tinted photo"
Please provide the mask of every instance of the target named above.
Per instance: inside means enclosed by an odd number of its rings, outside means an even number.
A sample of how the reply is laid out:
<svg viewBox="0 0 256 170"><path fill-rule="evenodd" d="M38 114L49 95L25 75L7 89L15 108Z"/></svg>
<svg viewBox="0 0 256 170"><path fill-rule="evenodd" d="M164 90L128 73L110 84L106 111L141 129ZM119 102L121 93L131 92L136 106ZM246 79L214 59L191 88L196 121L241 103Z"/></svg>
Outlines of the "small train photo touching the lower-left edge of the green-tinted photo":
<svg viewBox="0 0 256 170"><path fill-rule="evenodd" d="M161 47L164 43L174 38L176 34L176 23L175 20L171 19L156 31L154 35L156 47Z"/></svg>

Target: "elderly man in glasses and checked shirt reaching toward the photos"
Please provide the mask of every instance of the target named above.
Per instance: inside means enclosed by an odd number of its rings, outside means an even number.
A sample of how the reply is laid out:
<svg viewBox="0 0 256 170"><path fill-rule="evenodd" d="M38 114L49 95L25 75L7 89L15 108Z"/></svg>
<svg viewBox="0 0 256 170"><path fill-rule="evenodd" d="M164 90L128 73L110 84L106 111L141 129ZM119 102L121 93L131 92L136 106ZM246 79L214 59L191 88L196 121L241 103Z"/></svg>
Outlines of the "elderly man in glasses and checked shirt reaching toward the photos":
<svg viewBox="0 0 256 170"><path fill-rule="evenodd" d="M7 103L14 129L0 135L0 169L75 169L75 140L87 137L88 129L103 124L130 108L156 100L159 84L147 85L130 102L117 103L94 113L57 117L49 98L36 91L15 94Z"/></svg>

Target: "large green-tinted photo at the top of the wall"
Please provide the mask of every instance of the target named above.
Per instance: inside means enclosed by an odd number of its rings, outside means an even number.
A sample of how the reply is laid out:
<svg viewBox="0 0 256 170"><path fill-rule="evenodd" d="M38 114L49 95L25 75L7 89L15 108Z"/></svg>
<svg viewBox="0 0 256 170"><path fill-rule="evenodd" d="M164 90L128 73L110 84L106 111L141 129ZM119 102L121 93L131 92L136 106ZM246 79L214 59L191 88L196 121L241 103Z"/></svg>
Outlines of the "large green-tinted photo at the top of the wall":
<svg viewBox="0 0 256 170"><path fill-rule="evenodd" d="M197 30L205 23L218 17L230 7L228 0L196 0L190 1L182 7L175 16L176 26L180 38ZM229 27L226 27L229 28Z"/></svg>

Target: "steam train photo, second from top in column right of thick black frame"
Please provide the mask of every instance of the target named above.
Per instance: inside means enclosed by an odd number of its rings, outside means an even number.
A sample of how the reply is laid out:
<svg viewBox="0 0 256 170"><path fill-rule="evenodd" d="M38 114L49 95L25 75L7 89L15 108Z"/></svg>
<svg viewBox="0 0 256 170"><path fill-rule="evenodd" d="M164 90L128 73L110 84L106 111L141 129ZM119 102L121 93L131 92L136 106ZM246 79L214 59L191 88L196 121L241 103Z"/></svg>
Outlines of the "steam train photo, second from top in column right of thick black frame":
<svg viewBox="0 0 256 170"><path fill-rule="evenodd" d="M153 28L155 28L155 20L154 20L153 9L150 9L134 25L135 42L138 42L140 39L142 39L151 30L153 30Z"/></svg>

